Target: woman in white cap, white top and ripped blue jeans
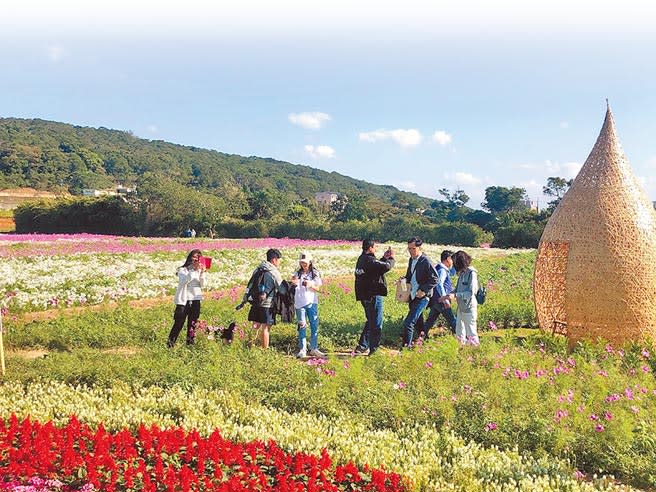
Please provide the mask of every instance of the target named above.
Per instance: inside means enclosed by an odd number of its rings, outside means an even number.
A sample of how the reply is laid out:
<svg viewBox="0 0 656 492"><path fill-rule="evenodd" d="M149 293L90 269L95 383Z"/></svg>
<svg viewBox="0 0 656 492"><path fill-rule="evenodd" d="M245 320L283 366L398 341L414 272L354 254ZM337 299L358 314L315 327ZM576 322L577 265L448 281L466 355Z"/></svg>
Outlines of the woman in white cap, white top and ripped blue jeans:
<svg viewBox="0 0 656 492"><path fill-rule="evenodd" d="M296 357L303 358L308 354L306 329L310 324L310 350L312 357L325 357L319 350L319 295L321 289L321 274L312 264L310 253L301 253L298 260L299 269L292 276L294 292L294 308L298 320L298 353Z"/></svg>

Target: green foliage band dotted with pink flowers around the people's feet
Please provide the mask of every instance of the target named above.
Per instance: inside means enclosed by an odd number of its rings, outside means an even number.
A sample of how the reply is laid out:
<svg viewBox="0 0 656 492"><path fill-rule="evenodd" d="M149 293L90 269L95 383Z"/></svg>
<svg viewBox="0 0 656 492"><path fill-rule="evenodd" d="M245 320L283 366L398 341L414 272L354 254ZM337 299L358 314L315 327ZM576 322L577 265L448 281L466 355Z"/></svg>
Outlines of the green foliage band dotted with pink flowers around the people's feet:
<svg viewBox="0 0 656 492"><path fill-rule="evenodd" d="M474 258L489 286L488 301L479 310L482 331L489 321L498 328L535 323L534 260L535 253ZM390 278L402 270L401 265ZM222 296L205 300L202 311L213 326L237 321L232 345L199 334L194 346L179 343L172 350L165 347L169 303L144 309L121 304L76 317L12 323L5 338L7 381L128 384L135 394L149 387L220 390L280 412L344 419L367 431L434 427L485 447L509 453L517 448L536 458L568 460L590 474L656 485L653 346L635 344L620 352L586 343L568 353L563 338L494 331L482 334L478 348L434 336L395 355L391 349L400 344L407 306L388 298L382 353L351 357L346 353L355 346L364 315L349 278L328 281L321 294L319 343L333 355L315 366L294 359L296 328L288 323L272 329L272 350L251 347L255 333L246 313L233 306ZM38 348L48 354L30 360L16 353ZM611 395L620 397L609 401ZM177 404L165 415L185 418Z"/></svg>

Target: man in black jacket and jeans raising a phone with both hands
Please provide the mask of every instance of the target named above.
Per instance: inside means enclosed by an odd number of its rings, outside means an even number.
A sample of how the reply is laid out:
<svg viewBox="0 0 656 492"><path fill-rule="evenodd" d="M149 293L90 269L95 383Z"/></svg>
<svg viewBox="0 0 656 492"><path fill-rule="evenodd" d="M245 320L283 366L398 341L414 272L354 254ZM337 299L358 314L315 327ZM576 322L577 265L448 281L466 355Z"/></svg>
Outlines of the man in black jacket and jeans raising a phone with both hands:
<svg viewBox="0 0 656 492"><path fill-rule="evenodd" d="M383 332L383 297L387 295L385 274L394 267L394 254L388 248L376 259L376 243L362 241L362 254L355 265L355 299L362 303L366 318L355 352L372 355L378 350Z"/></svg>

